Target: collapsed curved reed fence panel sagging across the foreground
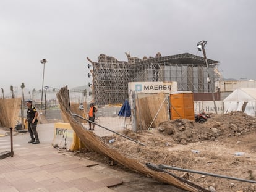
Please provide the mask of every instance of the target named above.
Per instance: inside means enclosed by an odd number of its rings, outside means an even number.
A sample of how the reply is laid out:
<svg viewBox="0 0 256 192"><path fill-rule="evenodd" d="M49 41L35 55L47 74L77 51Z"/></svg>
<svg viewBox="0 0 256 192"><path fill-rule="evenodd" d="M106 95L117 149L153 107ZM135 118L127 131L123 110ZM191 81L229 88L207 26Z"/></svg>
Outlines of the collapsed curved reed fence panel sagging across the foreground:
<svg viewBox="0 0 256 192"><path fill-rule="evenodd" d="M62 113L65 115L66 119L69 120L69 123L75 133L79 136L80 140L85 144L88 149L104 154L119 164L124 165L125 167L135 170L136 172L142 173L143 175L150 176L164 183L169 183L170 185L182 188L187 191L196 191L194 188L186 185L177 180L177 178L168 175L167 173L154 172L148 169L145 164L142 164L137 158L130 158L124 156L121 152L111 148L108 144L105 144L98 136L96 136L91 131L85 130L83 125L72 116L72 112L69 109L68 102L68 90L67 86L61 88L57 94L57 98L61 107ZM114 144L114 143L112 143Z"/></svg>

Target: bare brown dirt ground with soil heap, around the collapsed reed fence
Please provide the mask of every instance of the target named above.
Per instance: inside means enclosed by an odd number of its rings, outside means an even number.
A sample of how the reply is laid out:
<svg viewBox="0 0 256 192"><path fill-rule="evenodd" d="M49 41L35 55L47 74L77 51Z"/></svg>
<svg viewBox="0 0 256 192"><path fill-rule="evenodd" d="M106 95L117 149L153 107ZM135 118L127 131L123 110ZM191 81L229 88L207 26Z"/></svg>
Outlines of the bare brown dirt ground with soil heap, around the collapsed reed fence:
<svg viewBox="0 0 256 192"><path fill-rule="evenodd" d="M211 114L211 118L203 124L186 119L176 119L163 122L159 127L151 130L138 133L127 130L124 134L144 143L145 146L117 135L115 142L110 145L142 164L164 164L228 177L256 180L256 121L254 117L242 112ZM102 139L108 143L111 138ZM197 150L198 153L192 150ZM244 152L244 155L236 156L236 152ZM108 157L100 156L95 152L79 154L81 155L108 166L112 165L113 169L127 173L124 183L114 186L113 190L184 191L133 173L122 165L115 164ZM256 191L256 183L170 169L167 171L211 191Z"/></svg>

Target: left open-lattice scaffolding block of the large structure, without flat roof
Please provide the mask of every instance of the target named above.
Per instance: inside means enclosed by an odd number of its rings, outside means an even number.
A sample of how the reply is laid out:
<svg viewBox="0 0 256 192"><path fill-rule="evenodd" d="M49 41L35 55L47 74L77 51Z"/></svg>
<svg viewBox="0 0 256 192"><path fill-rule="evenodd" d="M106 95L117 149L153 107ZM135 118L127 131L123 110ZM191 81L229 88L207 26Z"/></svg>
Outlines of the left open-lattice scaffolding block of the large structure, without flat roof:
<svg viewBox="0 0 256 192"><path fill-rule="evenodd" d="M90 61L90 60L89 60ZM124 61L100 54L98 62L92 62L92 92L95 104L122 103L128 98L129 67Z"/></svg>

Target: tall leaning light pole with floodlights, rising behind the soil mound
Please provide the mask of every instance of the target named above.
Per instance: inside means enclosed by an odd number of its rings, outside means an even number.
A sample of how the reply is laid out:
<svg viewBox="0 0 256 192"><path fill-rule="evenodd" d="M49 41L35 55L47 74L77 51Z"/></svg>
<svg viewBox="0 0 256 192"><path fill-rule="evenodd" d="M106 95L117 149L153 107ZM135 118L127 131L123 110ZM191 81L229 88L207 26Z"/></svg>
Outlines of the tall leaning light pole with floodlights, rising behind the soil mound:
<svg viewBox="0 0 256 192"><path fill-rule="evenodd" d="M207 41L200 41L197 43L197 49L198 51L203 51L203 57L205 58L205 64L207 65L207 82L208 82L208 90L209 90L209 85L211 84L211 94L212 94L212 98L213 98L213 104L214 104L214 109L215 109L215 113L217 114L217 107L216 107L216 103L215 103L215 94L214 94L214 79L211 80L210 78L210 73L209 73L209 66L208 66L208 61L207 61L207 56L205 53L205 45L207 44Z"/></svg>

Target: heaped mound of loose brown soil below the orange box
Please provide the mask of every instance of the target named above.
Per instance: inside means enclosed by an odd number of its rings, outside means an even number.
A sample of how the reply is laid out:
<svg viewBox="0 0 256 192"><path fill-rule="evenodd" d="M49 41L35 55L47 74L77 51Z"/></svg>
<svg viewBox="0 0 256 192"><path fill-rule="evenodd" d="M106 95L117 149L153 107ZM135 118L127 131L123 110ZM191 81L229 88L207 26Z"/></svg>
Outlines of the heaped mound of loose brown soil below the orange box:
<svg viewBox="0 0 256 192"><path fill-rule="evenodd" d="M187 119L163 122L158 130L171 136L176 143L187 144L203 140L214 141L218 137L240 136L254 131L256 122L253 117L242 112L212 114L207 122L201 124Z"/></svg>

